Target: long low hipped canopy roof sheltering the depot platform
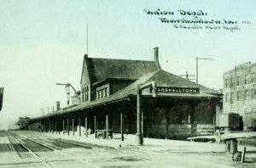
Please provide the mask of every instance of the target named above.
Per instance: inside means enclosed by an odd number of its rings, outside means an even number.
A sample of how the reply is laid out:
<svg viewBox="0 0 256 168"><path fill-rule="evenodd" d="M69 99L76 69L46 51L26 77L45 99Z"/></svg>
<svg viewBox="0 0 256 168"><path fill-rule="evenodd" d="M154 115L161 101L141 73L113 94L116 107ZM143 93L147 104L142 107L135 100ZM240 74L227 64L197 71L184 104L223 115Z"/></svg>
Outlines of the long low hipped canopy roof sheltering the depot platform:
<svg viewBox="0 0 256 168"><path fill-rule="evenodd" d="M156 83L157 98L220 99L222 96L219 92L213 91L210 88L201 86L200 84L189 81L180 76L176 76L165 70L155 70L154 72L140 77L137 81L132 82L131 85L119 90L119 92L113 93L109 97L96 99L69 109L62 109L55 113L36 117L32 120L47 118L53 115L63 115L81 109L91 109L102 104L112 104L124 101L125 99L127 100L132 97L136 97L137 86L149 81L155 81ZM143 97L152 97L151 88L144 89L142 95Z"/></svg>

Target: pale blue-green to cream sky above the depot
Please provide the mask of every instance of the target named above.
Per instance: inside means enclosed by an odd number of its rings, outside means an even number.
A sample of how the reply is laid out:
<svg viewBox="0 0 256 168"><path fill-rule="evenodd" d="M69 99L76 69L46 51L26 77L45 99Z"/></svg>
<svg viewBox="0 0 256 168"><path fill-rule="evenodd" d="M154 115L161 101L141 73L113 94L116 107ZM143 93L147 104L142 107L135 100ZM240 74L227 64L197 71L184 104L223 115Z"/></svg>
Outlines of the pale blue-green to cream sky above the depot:
<svg viewBox="0 0 256 168"><path fill-rule="evenodd" d="M20 116L46 114L56 101L67 106L65 87L55 83L69 82L79 90L86 23L90 58L154 60L153 48L159 47L162 69L176 75L195 75L195 57L214 59L199 60L199 83L220 89L224 71L256 63L255 8L253 0L1 0L0 129ZM170 13L147 13L152 11Z"/></svg>

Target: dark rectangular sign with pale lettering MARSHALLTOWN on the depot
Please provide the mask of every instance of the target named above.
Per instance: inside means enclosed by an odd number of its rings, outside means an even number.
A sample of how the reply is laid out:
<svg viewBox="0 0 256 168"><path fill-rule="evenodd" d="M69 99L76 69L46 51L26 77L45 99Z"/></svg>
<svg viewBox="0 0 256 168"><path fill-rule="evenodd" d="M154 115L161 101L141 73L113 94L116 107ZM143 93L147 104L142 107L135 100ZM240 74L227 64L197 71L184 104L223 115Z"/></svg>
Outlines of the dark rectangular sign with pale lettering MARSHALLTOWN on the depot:
<svg viewBox="0 0 256 168"><path fill-rule="evenodd" d="M199 94L200 89L192 87L156 87L156 92Z"/></svg>

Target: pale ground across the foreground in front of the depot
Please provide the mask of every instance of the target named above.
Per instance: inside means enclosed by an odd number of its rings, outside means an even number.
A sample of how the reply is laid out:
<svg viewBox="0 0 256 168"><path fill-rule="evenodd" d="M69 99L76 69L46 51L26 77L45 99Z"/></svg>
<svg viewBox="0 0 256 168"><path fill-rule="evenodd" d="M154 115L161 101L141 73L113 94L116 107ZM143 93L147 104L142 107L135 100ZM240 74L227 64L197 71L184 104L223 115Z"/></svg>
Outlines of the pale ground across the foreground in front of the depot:
<svg viewBox="0 0 256 168"><path fill-rule="evenodd" d="M119 139L95 139L94 135L68 137L44 132L18 131L16 133L56 148L57 151L41 150L39 152L40 156L46 158L53 167L256 167L255 147L247 147L245 163L241 164L226 161L224 144L218 143L144 138L144 145L137 146L133 135L128 135L125 137L125 142L121 142ZM27 143L26 139L23 141ZM71 144L76 142L91 148ZM241 148L242 146L239 146L239 150ZM32 157L20 158L17 155L16 152L8 151L0 153L0 167L45 167Z"/></svg>

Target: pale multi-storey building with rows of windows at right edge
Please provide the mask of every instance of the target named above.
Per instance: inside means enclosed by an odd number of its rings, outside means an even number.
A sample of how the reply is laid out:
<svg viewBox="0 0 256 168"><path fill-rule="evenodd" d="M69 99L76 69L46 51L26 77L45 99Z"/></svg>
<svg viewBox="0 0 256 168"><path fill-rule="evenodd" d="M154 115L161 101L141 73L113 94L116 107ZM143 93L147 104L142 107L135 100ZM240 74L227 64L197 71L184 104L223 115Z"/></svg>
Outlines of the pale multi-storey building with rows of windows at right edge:
<svg viewBox="0 0 256 168"><path fill-rule="evenodd" d="M256 125L256 64L247 62L224 72L224 114L242 116L244 130Z"/></svg>

